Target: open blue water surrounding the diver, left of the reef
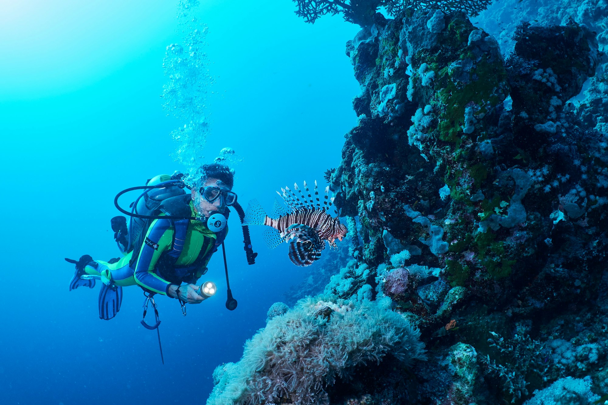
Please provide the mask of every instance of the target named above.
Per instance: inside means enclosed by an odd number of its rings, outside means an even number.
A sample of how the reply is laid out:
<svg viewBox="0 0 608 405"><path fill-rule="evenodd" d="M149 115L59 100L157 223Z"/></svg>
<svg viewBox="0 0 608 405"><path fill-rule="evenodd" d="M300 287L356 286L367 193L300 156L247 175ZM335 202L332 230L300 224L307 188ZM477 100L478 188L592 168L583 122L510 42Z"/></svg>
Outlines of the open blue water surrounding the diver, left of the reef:
<svg viewBox="0 0 608 405"><path fill-rule="evenodd" d="M358 27L339 16L306 24L289 0L201 1L213 85L204 160L236 151L241 204L270 207L275 190L317 179L340 161L359 91L344 54ZM98 319L98 287L68 291L64 257L117 257L109 220L117 192L187 170L163 109L166 48L182 31L173 0L0 3L0 173L4 247L0 271L0 403L203 403L216 365L236 361L283 292L308 277L285 246L248 266L240 227L226 241L237 310L224 308L220 255L204 278L218 296L188 306L160 297L156 333L140 326L143 295L125 288L115 319ZM122 201L126 201L122 200Z"/></svg>

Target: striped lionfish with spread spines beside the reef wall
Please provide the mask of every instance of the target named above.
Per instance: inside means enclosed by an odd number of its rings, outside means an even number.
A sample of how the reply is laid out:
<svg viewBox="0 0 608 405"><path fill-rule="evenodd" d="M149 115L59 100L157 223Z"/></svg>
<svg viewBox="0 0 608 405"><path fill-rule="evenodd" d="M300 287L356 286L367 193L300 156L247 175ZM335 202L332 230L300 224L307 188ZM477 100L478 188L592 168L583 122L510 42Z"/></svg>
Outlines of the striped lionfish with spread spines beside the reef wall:
<svg viewBox="0 0 608 405"><path fill-rule="evenodd" d="M255 199L251 200L247 207L244 224L271 227L267 228L265 232L268 246L274 249L285 241L289 245L289 259L292 263L296 266L309 266L321 257L321 251L325 249L325 241L335 249L337 247L336 239L342 241L347 228L340 224L337 216L333 217L328 213L334 202L334 197L328 199L329 186L325 187L323 204L319 200L316 181L314 182L316 204L306 182L304 182L304 190L308 194L308 198L295 183L294 189L300 193L301 198L295 195L289 187L281 189L281 193L277 192L289 210L275 199L271 212L272 218L266 215L259 202Z"/></svg>

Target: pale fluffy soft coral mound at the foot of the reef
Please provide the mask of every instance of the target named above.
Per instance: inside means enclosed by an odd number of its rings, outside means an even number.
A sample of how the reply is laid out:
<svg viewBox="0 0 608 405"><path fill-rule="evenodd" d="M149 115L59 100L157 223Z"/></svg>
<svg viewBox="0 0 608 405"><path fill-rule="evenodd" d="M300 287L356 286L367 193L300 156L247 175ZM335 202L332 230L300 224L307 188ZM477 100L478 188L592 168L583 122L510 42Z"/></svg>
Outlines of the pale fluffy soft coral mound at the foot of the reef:
<svg viewBox="0 0 608 405"><path fill-rule="evenodd" d="M328 404L328 387L358 365L387 355L406 366L426 359L420 332L390 305L387 298L300 300L247 341L240 361L215 370L207 405Z"/></svg>

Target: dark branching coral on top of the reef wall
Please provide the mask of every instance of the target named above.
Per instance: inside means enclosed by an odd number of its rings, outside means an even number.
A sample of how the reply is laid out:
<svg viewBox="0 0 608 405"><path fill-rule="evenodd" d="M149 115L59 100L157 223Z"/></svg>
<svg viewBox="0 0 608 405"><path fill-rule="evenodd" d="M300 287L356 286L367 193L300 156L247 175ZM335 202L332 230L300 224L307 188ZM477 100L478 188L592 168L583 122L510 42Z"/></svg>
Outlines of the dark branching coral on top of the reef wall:
<svg viewBox="0 0 608 405"><path fill-rule="evenodd" d="M373 15L380 7L395 16L405 9L441 9L446 12L465 10L468 15L476 16L485 10L492 0L294 0L298 10L295 12L304 21L314 24L320 16L342 14L344 19L360 26L371 26Z"/></svg>

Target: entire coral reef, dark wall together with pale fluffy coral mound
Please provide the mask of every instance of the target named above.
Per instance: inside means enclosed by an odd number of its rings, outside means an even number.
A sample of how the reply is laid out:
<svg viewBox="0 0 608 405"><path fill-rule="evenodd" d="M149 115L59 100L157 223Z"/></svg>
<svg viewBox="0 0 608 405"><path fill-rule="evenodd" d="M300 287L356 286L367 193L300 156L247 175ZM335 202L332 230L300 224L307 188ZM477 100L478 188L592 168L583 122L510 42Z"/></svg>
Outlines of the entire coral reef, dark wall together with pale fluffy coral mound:
<svg viewBox="0 0 608 405"><path fill-rule="evenodd" d="M463 12L370 17L346 49L358 124L327 173L351 260L323 294L269 312L210 403L608 393L606 7L576 4L575 18L506 22L508 41Z"/></svg>

